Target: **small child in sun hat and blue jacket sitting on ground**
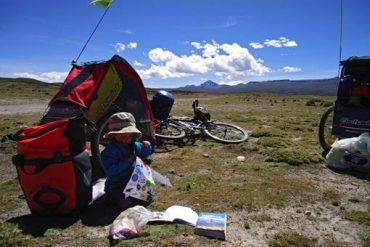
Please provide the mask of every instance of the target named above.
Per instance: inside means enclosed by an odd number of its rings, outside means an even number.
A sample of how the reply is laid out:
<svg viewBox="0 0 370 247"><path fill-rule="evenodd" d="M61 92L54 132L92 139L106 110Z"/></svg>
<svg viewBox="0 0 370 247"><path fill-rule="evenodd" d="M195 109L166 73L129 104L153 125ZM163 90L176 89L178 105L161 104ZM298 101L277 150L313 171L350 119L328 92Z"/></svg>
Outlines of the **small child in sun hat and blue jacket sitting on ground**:
<svg viewBox="0 0 370 247"><path fill-rule="evenodd" d="M136 128L135 118L131 113L119 112L108 121L108 132L104 136L109 144L101 153L105 174L105 202L121 210L136 205L147 206L150 202L123 193L135 168L136 157L142 160L152 153L149 141L139 142L141 132Z"/></svg>

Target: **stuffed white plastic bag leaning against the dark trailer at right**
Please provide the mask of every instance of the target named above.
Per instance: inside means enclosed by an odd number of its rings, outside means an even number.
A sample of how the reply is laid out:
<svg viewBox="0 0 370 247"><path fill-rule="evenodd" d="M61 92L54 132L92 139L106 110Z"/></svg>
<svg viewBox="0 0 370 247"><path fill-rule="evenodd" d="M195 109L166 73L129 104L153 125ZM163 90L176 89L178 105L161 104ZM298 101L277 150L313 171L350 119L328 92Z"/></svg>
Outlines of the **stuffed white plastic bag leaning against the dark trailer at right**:
<svg viewBox="0 0 370 247"><path fill-rule="evenodd" d="M326 155L330 168L370 172L370 137L362 133L359 137L336 140Z"/></svg>

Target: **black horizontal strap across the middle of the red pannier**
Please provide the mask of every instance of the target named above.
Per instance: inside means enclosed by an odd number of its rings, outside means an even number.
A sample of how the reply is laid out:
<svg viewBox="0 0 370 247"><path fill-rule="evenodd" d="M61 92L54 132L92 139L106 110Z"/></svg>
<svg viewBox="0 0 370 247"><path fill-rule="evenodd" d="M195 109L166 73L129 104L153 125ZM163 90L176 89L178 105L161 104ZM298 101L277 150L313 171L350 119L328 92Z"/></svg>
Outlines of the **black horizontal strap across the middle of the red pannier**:
<svg viewBox="0 0 370 247"><path fill-rule="evenodd" d="M62 156L60 153L54 153L54 156L51 158L38 158L33 160L25 160L22 155L14 155L12 158L13 164L19 166L22 171L27 175L35 175L45 169L46 166L55 163L64 163L71 161L72 156ZM32 171L27 171L25 166L34 166L35 169ZM29 169L31 170L31 169Z"/></svg>

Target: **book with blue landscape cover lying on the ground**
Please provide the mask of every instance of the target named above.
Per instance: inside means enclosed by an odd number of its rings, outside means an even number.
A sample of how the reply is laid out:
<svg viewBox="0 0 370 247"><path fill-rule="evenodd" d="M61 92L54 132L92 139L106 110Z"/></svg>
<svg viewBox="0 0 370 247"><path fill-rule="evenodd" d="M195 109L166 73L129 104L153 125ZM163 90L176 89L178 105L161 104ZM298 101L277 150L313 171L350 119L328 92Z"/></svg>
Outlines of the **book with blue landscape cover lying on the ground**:
<svg viewBox="0 0 370 247"><path fill-rule="evenodd" d="M194 233L210 238L226 239L225 213L199 213Z"/></svg>

